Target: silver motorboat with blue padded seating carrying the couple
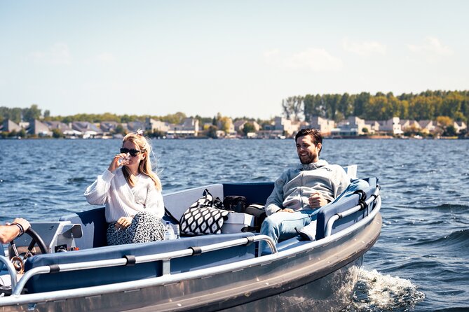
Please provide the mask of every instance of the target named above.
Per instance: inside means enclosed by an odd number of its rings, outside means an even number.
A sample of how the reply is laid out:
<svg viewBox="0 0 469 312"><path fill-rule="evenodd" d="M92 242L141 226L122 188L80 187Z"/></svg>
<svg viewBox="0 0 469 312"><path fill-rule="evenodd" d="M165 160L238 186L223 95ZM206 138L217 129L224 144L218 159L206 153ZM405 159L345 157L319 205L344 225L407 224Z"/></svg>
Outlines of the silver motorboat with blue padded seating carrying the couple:
<svg viewBox="0 0 469 312"><path fill-rule="evenodd" d="M15 239L21 259L33 255L13 265L10 246L0 256L12 280L0 311L340 311L381 232L378 178L365 180L369 187L319 209L313 241L299 235L276 244L252 231L255 217L245 213L230 213L221 234L121 246L105 246L104 208L33 222L31 238ZM273 183L181 190L164 195L165 207L178 218L203 190L265 203ZM259 254L259 241L269 255Z"/></svg>

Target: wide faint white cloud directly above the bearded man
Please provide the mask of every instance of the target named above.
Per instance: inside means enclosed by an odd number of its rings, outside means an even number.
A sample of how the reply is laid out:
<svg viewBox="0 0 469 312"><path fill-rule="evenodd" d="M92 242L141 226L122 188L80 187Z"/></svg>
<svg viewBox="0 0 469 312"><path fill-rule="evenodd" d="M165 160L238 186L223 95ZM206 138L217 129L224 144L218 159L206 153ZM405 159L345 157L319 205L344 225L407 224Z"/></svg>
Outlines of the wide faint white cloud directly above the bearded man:
<svg viewBox="0 0 469 312"><path fill-rule="evenodd" d="M339 71L342 69L342 60L330 55L324 49L308 48L304 51L283 57L280 50L273 49L264 53L267 64L287 69L311 69L312 71Z"/></svg>

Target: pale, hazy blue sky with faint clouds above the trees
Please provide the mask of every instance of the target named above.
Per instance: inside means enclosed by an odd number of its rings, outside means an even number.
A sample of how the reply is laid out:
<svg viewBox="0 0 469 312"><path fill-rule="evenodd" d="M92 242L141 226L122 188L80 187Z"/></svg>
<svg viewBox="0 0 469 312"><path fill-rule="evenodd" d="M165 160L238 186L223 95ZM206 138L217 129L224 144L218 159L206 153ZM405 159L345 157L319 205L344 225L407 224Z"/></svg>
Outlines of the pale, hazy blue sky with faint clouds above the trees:
<svg viewBox="0 0 469 312"><path fill-rule="evenodd" d="M0 0L0 106L270 119L306 94L468 90L469 1Z"/></svg>

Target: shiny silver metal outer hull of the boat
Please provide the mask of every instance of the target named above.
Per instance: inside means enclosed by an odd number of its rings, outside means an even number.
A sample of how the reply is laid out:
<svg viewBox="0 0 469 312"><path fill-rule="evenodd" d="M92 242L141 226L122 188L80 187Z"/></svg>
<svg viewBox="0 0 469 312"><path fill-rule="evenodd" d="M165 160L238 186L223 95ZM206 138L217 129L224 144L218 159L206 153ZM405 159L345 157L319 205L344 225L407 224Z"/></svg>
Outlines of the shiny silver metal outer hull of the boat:
<svg viewBox="0 0 469 312"><path fill-rule="evenodd" d="M149 278L139 283L74 290L48 299L22 295L0 311L340 311L351 302L363 255L381 232L381 215L327 243L313 241L277 254ZM311 245L311 248L308 246ZM97 276L99 278L99 276Z"/></svg>

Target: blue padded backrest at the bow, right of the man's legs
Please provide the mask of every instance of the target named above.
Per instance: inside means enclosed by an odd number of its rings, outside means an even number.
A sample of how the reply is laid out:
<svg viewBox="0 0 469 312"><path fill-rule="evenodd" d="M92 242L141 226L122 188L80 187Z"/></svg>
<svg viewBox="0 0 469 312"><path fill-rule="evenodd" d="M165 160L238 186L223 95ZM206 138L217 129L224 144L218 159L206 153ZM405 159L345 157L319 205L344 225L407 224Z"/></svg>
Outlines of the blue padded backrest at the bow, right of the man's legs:
<svg viewBox="0 0 469 312"><path fill-rule="evenodd" d="M360 190L363 190L367 194L367 198L371 196L374 191L376 190L376 184L378 183L377 178L366 178L362 179L365 180L367 183L360 184L362 186L358 187ZM345 191L347 192L347 190ZM354 206L357 206L359 203L360 194L353 194L353 192L349 194L345 194L345 196L341 197L337 201L320 208L318 211L318 223L316 228L316 240L323 239L325 237L327 222L329 219L335 215L336 213L342 213ZM362 220L367 215L367 209L362 211L358 211L351 215L348 215L345 218L341 218L334 222L332 227L331 234L339 232L341 229L345 229L353 225L354 223Z"/></svg>

